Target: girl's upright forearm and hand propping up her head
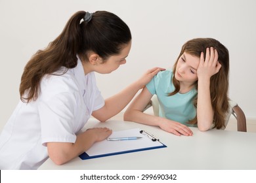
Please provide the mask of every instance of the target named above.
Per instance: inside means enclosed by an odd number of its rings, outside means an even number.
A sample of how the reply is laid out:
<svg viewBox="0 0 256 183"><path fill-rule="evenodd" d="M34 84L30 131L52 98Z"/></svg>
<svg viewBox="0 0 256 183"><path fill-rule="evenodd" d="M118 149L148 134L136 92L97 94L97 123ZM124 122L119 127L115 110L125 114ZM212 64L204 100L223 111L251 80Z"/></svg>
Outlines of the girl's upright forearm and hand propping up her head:
<svg viewBox="0 0 256 183"><path fill-rule="evenodd" d="M197 118L198 129L200 131L207 131L213 124L213 107L211 106L210 95L210 79L221 69L221 63L218 61L218 52L212 47L206 49L205 60L203 53L200 57L200 64L198 66L198 106Z"/></svg>

